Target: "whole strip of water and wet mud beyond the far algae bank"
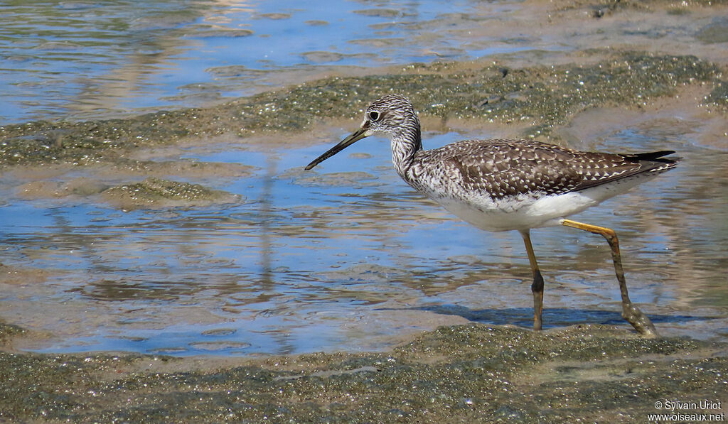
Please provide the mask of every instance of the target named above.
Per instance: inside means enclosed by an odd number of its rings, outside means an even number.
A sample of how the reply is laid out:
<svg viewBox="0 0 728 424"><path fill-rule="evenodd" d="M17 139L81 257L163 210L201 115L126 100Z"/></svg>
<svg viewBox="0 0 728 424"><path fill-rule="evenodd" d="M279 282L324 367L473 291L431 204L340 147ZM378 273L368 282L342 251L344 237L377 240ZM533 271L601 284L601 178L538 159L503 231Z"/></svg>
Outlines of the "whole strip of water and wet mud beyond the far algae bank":
<svg viewBox="0 0 728 424"><path fill-rule="evenodd" d="M615 22L569 1L5 1L0 125L203 106L363 68L522 51L539 64L623 46L724 60L722 10L621 7Z"/></svg>

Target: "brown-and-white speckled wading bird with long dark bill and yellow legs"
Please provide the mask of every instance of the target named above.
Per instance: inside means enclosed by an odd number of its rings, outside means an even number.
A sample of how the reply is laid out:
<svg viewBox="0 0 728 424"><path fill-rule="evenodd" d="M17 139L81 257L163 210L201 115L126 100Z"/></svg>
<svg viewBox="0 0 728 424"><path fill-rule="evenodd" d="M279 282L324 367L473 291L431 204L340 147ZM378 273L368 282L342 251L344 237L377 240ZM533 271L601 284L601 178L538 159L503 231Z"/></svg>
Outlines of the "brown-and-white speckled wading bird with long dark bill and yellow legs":
<svg viewBox="0 0 728 424"><path fill-rule="evenodd" d="M411 101L398 94L374 100L359 129L304 169L309 170L370 136L388 137L400 177L462 220L484 231L518 231L533 276L534 330L542 329L544 279L531 245L531 229L563 225L604 237L622 297L622 318L641 335L657 337L652 321L629 298L617 234L567 217L676 167L675 151L616 154L577 151L537 140L464 140L422 148L422 129Z"/></svg>

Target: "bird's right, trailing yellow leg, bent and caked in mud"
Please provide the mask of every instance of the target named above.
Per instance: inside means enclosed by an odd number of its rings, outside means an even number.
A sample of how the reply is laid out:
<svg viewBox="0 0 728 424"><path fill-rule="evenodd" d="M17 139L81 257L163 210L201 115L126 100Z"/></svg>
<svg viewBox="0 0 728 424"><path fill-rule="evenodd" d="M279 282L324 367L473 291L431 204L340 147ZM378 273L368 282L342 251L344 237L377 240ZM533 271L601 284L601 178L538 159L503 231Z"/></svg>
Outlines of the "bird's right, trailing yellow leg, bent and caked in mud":
<svg viewBox="0 0 728 424"><path fill-rule="evenodd" d="M642 335L657 337L657 330L649 318L642 311L633 305L627 292L627 281L625 281L625 273L622 271L622 255L620 255L620 242L617 240L617 234L611 228L598 227L585 223L579 223L572 220L561 220L561 225L577 228L590 233L601 234L612 248L612 260L614 261L614 271L617 273L617 281L620 281L620 292L622 294L622 318L626 319L632 327Z"/></svg>

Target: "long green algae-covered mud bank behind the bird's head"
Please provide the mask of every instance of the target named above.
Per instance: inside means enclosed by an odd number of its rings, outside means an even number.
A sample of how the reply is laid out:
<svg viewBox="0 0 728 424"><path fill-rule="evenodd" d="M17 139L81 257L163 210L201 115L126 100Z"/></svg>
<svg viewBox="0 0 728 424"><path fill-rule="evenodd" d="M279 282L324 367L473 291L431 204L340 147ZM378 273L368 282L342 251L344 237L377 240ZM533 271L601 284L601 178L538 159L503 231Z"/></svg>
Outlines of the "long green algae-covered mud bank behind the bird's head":
<svg viewBox="0 0 728 424"><path fill-rule="evenodd" d="M641 52L608 55L596 63L531 68L416 64L396 73L321 79L211 108L132 119L7 125L0 127L0 166L95 164L149 145L304 132L328 120L357 118L371 100L393 91L411 97L425 117L517 124L525 128L521 136L539 137L587 108L638 108L688 84L720 86L720 76L716 65L694 56ZM725 112L727 106L719 110Z"/></svg>

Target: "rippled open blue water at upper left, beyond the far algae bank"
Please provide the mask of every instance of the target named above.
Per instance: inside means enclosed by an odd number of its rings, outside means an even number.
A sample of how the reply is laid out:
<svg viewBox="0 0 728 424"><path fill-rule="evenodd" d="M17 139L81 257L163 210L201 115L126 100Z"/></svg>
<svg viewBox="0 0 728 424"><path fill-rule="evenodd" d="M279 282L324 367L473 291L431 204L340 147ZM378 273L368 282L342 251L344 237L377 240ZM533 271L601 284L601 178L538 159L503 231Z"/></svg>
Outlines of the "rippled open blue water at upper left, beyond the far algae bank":
<svg viewBox="0 0 728 424"><path fill-rule="evenodd" d="M518 2L488 10L507 12L511 4ZM205 105L300 81L330 65L534 47L526 40L463 42L460 31L490 19L482 9L463 0L4 2L0 124ZM419 33L438 29L452 36Z"/></svg>

